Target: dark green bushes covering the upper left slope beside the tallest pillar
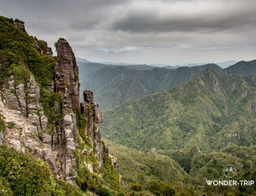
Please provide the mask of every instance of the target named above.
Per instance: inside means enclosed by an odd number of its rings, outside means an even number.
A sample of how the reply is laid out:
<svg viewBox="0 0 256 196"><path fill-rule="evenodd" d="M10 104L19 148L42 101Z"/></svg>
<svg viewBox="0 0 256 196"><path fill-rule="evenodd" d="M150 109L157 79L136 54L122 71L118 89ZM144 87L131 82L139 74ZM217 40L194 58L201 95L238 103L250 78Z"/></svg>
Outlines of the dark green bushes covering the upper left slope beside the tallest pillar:
<svg viewBox="0 0 256 196"><path fill-rule="evenodd" d="M1 84L10 75L17 81L26 82L31 73L43 86L53 80L56 59L44 54L47 46L43 42L40 42L42 55L34 49L35 45L33 37L14 27L8 18L0 16Z"/></svg>

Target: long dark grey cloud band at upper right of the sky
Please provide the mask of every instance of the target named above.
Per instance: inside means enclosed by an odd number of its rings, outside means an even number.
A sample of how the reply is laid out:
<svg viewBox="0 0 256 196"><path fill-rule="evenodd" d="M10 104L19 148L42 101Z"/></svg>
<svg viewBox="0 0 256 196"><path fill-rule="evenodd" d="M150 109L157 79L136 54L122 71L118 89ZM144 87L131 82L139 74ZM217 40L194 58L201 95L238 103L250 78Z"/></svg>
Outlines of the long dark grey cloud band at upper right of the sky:
<svg viewBox="0 0 256 196"><path fill-rule="evenodd" d="M163 17L161 10L155 12L130 11L122 18L115 20L111 26L114 31L121 30L127 32L193 32L193 31L220 31L250 25L256 26L256 2L254 8L241 10L225 9L202 14L170 14Z"/></svg>

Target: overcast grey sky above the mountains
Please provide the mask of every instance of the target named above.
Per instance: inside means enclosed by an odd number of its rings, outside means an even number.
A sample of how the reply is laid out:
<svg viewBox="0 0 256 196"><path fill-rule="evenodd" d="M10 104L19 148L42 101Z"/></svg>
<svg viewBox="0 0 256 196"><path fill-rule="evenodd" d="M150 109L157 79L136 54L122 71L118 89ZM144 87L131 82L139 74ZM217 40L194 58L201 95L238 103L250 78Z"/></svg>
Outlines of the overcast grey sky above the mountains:
<svg viewBox="0 0 256 196"><path fill-rule="evenodd" d="M255 0L0 0L0 15L95 62L256 59Z"/></svg>

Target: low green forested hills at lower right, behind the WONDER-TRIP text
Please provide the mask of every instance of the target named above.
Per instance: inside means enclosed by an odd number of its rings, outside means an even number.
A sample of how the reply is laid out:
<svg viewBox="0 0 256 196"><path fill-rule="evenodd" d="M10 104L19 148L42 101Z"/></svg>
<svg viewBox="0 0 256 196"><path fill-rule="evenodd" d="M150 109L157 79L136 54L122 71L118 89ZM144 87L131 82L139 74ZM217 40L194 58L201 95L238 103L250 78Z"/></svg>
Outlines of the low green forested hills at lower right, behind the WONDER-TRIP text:
<svg viewBox="0 0 256 196"><path fill-rule="evenodd" d="M203 193L215 195L216 191L217 195L224 193L232 195L239 192L241 194L235 195L250 195L248 193L254 195L256 193L254 185L246 188L237 186L233 189L229 186L208 186L205 181L229 180L223 174L223 168L228 164L233 164L237 168L238 175L232 180L253 180L255 178L252 177L255 172L255 146L230 145L223 148L221 153L202 153L197 146L193 146L188 151L159 150L153 157L150 153L127 148L109 140L106 142L110 151L114 153L121 164L119 172L123 177L125 189L131 191L130 194L154 193L160 195L159 192L148 192L153 189L158 191L161 189L156 188L159 185L157 183L159 180L161 180L160 184L165 183L175 189L175 195L203 195ZM247 156L248 154L250 156ZM182 171L179 165L187 167L187 173ZM185 167L183 168L185 169ZM249 175L245 176L245 173L249 173ZM151 189L148 186L154 188Z"/></svg>

